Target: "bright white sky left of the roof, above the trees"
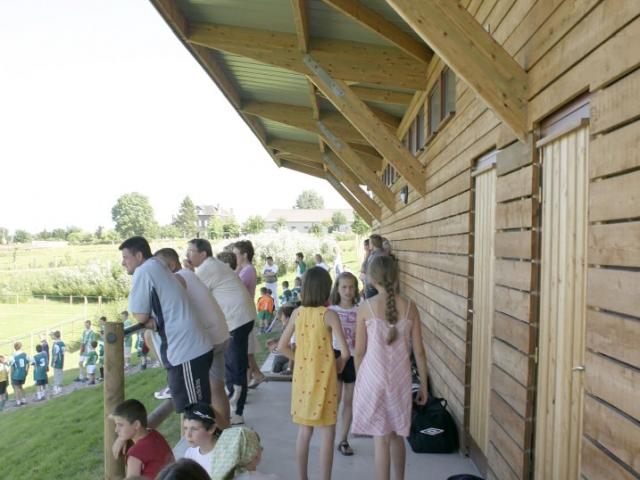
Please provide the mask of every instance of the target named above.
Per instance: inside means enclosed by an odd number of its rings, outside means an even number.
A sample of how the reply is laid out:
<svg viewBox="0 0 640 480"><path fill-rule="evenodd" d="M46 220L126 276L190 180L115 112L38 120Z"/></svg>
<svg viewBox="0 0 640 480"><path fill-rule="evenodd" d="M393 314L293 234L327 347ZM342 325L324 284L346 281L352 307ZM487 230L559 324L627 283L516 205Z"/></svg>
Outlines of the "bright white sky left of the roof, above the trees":
<svg viewBox="0 0 640 480"><path fill-rule="evenodd" d="M112 227L123 193L240 219L324 181L279 169L145 0L0 0L0 226ZM266 193L268 190L269 193Z"/></svg>

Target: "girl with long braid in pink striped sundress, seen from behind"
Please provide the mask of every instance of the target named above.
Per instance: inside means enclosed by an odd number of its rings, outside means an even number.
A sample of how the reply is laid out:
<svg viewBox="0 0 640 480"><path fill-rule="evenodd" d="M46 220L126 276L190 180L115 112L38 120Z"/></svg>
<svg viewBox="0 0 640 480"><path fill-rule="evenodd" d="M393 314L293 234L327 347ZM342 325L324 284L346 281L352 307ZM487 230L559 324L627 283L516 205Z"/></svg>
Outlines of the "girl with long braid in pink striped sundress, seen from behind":
<svg viewBox="0 0 640 480"><path fill-rule="evenodd" d="M427 358L422 344L420 317L415 304L398 295L398 267L394 259L372 260L367 278L378 290L360 307L356 319L353 398L355 434L374 439L377 480L404 478L404 437L411 427L411 351L421 384L416 402L427 401Z"/></svg>

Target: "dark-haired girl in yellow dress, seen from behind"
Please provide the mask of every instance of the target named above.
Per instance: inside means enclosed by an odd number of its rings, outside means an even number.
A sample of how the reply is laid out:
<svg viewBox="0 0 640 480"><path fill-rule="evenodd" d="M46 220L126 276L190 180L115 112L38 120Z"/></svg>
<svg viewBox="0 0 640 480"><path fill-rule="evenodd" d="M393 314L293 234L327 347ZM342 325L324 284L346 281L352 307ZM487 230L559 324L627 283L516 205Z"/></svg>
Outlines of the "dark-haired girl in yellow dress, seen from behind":
<svg viewBox="0 0 640 480"><path fill-rule="evenodd" d="M314 428L320 431L321 478L329 480L333 468L333 442L338 414L337 375L349 360L349 346L340 319L327 309L331 294L331 277L321 267L314 267L302 280L302 306L294 310L278 350L294 360L291 389L291 416L299 425L296 442L298 477L308 480L309 442ZM295 332L295 357L289 341ZM332 335L340 347L335 360Z"/></svg>

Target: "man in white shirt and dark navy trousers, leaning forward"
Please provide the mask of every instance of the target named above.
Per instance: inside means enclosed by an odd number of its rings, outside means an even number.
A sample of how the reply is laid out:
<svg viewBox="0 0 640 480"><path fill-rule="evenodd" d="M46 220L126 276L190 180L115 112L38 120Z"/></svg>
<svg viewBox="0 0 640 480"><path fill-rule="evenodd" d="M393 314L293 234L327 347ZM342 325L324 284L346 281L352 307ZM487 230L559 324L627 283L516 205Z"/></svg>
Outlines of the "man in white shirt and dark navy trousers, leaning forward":
<svg viewBox="0 0 640 480"><path fill-rule="evenodd" d="M225 381L231 404L231 424L244 423L247 399L249 334L257 318L256 306L240 277L226 263L213 257L208 240L195 238L187 246L187 259L196 275L220 305L229 326L229 347L225 352Z"/></svg>

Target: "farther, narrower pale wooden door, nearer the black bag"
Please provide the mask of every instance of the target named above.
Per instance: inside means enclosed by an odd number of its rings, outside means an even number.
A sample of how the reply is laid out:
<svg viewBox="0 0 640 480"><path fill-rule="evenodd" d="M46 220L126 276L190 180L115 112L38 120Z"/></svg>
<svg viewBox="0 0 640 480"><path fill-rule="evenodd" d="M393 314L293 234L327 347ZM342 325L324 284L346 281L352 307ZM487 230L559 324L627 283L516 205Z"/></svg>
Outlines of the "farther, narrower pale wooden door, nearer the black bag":
<svg viewBox="0 0 640 480"><path fill-rule="evenodd" d="M489 446L495 212L496 169L490 166L475 176L471 409L469 412L469 434L485 457Z"/></svg>

